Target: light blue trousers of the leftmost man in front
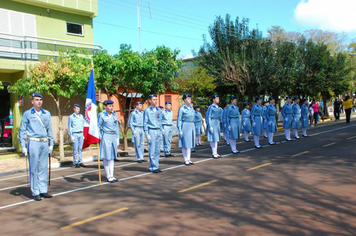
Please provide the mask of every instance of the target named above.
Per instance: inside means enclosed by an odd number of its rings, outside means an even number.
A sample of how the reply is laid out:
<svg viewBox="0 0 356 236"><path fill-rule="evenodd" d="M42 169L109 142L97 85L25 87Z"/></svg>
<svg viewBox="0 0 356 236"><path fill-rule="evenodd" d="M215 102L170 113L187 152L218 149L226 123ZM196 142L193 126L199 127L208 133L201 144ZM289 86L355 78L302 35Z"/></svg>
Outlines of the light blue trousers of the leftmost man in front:
<svg viewBox="0 0 356 236"><path fill-rule="evenodd" d="M27 145L32 196L47 193L48 142L29 140Z"/></svg>

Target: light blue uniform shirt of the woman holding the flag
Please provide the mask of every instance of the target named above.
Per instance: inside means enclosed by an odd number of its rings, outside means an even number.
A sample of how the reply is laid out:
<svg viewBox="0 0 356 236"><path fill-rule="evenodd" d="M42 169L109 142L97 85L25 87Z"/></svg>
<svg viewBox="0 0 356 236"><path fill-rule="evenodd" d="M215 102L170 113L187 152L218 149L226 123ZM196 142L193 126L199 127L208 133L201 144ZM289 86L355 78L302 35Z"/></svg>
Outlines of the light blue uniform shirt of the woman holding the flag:
<svg viewBox="0 0 356 236"><path fill-rule="evenodd" d="M104 133L114 132L117 137L119 133L119 120L117 115L113 112L109 115L106 111L102 111L98 116L98 128L100 130L100 137L103 137Z"/></svg>

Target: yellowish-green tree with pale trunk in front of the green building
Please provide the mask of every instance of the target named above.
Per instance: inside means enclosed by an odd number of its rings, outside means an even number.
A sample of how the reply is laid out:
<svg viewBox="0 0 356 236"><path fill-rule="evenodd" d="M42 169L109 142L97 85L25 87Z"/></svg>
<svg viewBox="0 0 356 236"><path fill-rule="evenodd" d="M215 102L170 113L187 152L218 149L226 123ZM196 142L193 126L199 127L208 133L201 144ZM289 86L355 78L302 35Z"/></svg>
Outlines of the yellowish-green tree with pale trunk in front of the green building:
<svg viewBox="0 0 356 236"><path fill-rule="evenodd" d="M34 92L48 94L54 101L58 115L59 157L64 159L63 113L71 104L71 98L86 96L90 72L90 59L72 51L61 54L55 63L53 59L29 67L27 76L18 80L11 91L23 97ZM62 100L67 98L65 104Z"/></svg>

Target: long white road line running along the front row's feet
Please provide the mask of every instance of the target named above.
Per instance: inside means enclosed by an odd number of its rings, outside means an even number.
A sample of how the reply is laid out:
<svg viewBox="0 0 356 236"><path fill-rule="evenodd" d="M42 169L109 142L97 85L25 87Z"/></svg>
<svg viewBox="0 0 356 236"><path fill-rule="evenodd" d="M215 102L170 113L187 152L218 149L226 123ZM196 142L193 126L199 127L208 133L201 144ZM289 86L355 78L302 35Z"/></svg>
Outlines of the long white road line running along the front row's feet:
<svg viewBox="0 0 356 236"><path fill-rule="evenodd" d="M311 134L311 135L309 135L309 136L315 136L315 135L318 135L318 134L328 133L328 132L332 132L332 131L340 130L340 129L347 129L347 128L353 127L353 126L356 126L356 124L354 124L354 125L348 125L347 127L341 127L341 128L336 128L336 129L332 129L332 130L322 131L322 132L319 132L319 133ZM281 136L281 135L284 135L284 134L280 134L280 136ZM280 144L286 143L286 142L287 142L287 141L281 141ZM244 143L244 142L241 142L241 143ZM265 146L263 146L263 147L268 148L268 147L271 147L271 146L270 146L270 145L265 145ZM210 149L210 148L200 149L200 150L209 150L209 149ZM199 151L200 151L200 150L199 150ZM246 150L241 151L241 153L249 152L249 151L253 151L253 150L256 150L256 149L255 149L255 148L246 149ZM229 156L229 155L233 155L233 154L232 154L232 153L229 153L229 154L225 154L225 155L223 155L223 156ZM177 155L177 156L178 156L178 155ZM179 155L179 156L180 156L180 155ZM210 158L207 158L207 159L204 159L204 160L196 161L195 163L204 162L204 161L210 161L210 160L214 160L214 159L210 157ZM136 163L133 163L133 164L136 164ZM173 166L173 167L166 168L166 169L162 169L162 170L165 171L165 170L170 170L170 169L176 169L176 168L183 167L183 166L184 166L184 165L178 165L178 166ZM134 178L141 177L141 176L145 176L145 175L149 175L149 174L152 174L152 173L150 172L150 173L144 173L144 174L134 175L134 176L131 176L131 177L119 179L119 181L128 180L128 179L134 179ZM108 182L102 183L102 185L106 185L106 184L110 184L110 183L108 183ZM77 192L77 191L81 191L81 190L85 190L85 189L90 189L90 188L94 188L94 187L99 187L99 186L100 186L99 184L94 184L94 185L90 185L90 186L86 186L86 187L82 187L82 188L77 188L77 189L73 189L73 190L69 190L69 191L65 191L65 192L56 193L56 194L53 194L53 196L64 195L64 194L73 193L73 192ZM26 200L26 201L22 201L22 202L17 202L17 203L13 203L13 204L9 204L9 205L4 205L4 206L1 206L1 207L0 207L0 210L1 210L1 209L5 209L5 208L9 208L9 207L13 207L13 206L18 206L18 205L30 203L30 202L34 202L34 200L31 199L31 200Z"/></svg>

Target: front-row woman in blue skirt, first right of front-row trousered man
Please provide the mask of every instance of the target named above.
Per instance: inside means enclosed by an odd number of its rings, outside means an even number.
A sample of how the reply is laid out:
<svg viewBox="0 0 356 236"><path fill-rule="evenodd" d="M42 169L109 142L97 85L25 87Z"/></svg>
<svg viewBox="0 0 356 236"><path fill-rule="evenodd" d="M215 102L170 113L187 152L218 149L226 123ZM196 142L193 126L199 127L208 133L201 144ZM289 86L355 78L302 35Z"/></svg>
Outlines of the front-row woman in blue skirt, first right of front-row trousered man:
<svg viewBox="0 0 356 236"><path fill-rule="evenodd" d="M195 147L195 111L191 106L190 94L183 94L184 105L179 108L177 128L179 132L179 147L182 148L183 161L186 166L194 165L191 161L191 150Z"/></svg>

